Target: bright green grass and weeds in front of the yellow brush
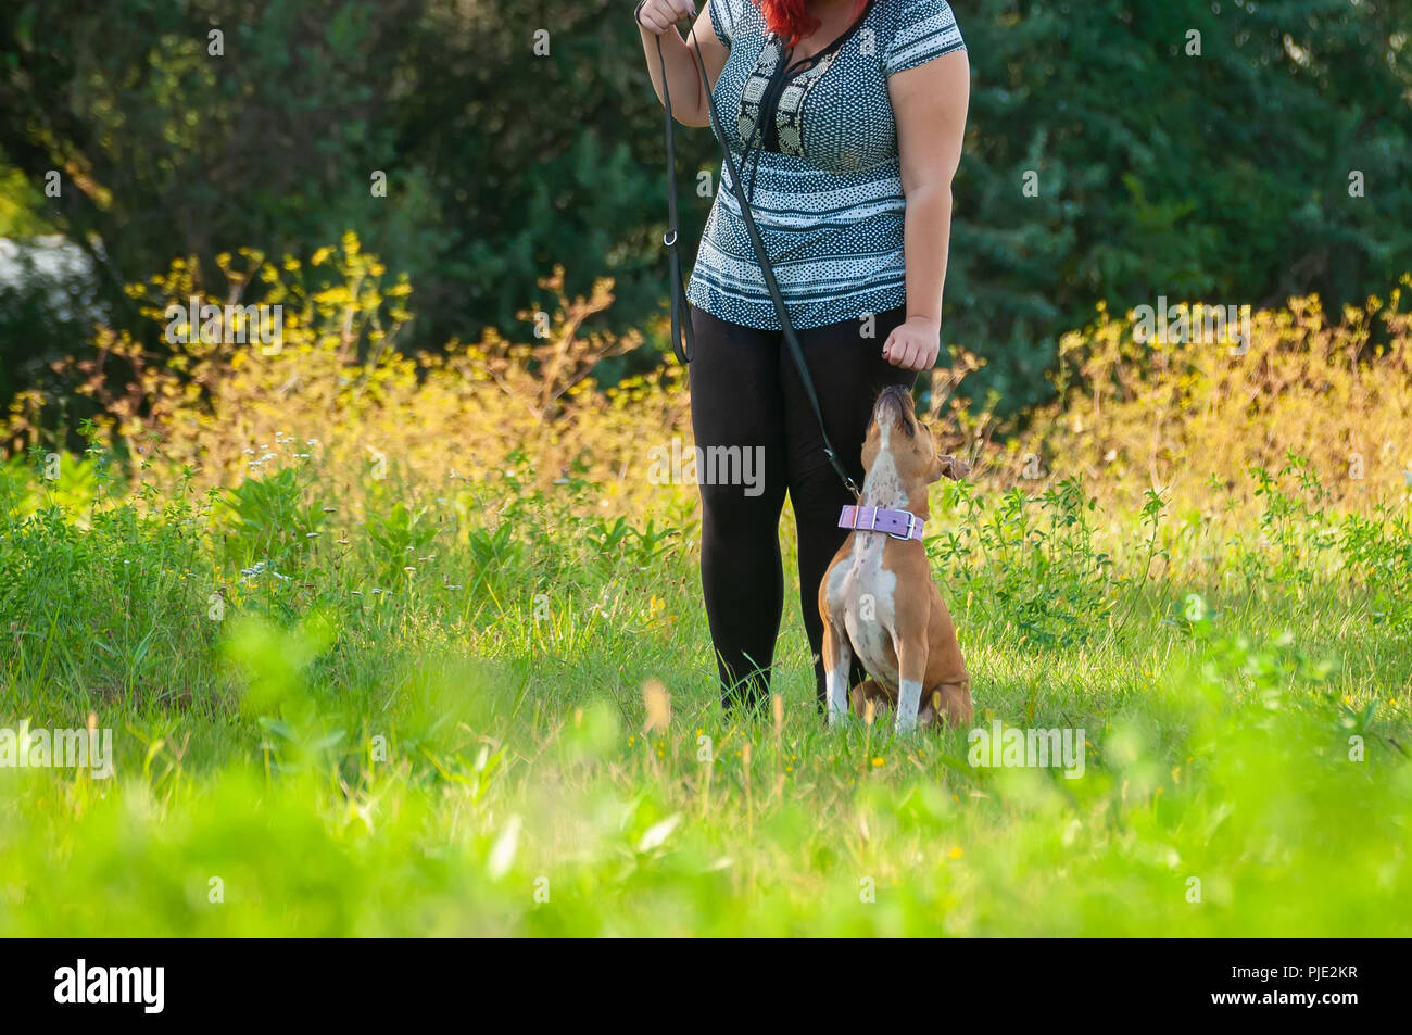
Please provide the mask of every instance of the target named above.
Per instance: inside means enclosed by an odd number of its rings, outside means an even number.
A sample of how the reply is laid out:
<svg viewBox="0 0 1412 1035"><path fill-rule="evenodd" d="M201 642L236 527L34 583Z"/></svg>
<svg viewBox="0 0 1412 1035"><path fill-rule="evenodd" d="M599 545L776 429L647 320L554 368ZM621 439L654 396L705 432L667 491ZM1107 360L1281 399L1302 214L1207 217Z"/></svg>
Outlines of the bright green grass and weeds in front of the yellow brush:
<svg viewBox="0 0 1412 1035"><path fill-rule="evenodd" d="M40 474L0 726L95 713L117 775L0 770L0 935L1412 933L1412 531L1298 460L1244 525L936 490L977 726L1082 727L1079 779L827 731L788 593L779 720L723 714L688 490Z"/></svg>

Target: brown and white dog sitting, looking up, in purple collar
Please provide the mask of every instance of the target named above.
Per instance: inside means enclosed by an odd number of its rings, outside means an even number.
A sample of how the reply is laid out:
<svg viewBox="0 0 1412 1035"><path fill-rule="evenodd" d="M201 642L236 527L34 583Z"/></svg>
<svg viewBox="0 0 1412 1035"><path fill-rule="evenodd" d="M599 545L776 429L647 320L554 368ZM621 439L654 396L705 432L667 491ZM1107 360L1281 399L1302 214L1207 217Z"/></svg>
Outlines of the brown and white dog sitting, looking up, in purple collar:
<svg viewBox="0 0 1412 1035"><path fill-rule="evenodd" d="M851 703L897 707L897 729L971 719L970 676L952 616L932 582L921 525L926 489L970 467L936 452L907 388L885 388L863 442L863 498L839 525L856 530L819 586L829 724ZM873 676L849 690L853 654Z"/></svg>

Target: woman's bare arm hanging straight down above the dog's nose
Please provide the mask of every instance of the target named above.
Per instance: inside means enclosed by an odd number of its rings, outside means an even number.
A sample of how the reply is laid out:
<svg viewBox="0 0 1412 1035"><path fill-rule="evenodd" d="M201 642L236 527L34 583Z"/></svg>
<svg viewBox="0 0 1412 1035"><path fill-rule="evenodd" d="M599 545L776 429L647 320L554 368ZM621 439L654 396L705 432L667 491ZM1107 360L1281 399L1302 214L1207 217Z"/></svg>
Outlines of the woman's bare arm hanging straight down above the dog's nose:
<svg viewBox="0 0 1412 1035"><path fill-rule="evenodd" d="M888 78L907 198L904 256L907 322L882 343L882 356L907 370L928 370L942 347L942 288L952 240L952 178L962 161L970 62L952 51Z"/></svg>

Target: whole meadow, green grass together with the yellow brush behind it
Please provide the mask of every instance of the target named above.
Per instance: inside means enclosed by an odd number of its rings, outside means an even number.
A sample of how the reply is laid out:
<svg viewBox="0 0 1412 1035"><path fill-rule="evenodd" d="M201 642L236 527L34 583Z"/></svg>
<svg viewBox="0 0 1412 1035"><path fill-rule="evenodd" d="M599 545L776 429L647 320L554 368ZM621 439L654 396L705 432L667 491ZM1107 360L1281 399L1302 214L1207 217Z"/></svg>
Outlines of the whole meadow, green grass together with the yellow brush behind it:
<svg viewBox="0 0 1412 1035"><path fill-rule="evenodd" d="M640 345L580 333L609 285L414 360L356 240L335 291L250 261L280 350L100 333L136 373L86 449L10 408L0 727L116 771L0 768L0 935L1412 933L1396 298L1238 357L1099 313L1024 432L923 400L979 460L926 541L976 724L1082 730L1069 777L827 731L788 508L777 699L722 713L695 486L648 477L686 390L594 384Z"/></svg>

